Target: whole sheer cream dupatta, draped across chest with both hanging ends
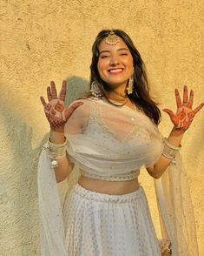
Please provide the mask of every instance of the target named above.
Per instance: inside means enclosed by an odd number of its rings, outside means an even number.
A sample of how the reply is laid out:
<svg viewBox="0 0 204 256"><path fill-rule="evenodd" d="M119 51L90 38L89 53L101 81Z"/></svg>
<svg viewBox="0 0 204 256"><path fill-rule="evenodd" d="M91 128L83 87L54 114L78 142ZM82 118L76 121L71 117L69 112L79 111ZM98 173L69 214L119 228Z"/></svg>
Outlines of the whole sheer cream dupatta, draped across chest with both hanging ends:
<svg viewBox="0 0 204 256"><path fill-rule="evenodd" d="M116 174L155 165L163 149L162 136L147 116L128 107L115 107L103 99L89 98L83 102L65 127L67 152L75 169L62 191L67 192L76 184L79 167ZM198 255L194 212L180 155L176 164L169 165L161 179L155 180L155 191L162 237L171 240L173 256ZM38 194L42 255L67 255L55 172L44 151L38 165Z"/></svg>

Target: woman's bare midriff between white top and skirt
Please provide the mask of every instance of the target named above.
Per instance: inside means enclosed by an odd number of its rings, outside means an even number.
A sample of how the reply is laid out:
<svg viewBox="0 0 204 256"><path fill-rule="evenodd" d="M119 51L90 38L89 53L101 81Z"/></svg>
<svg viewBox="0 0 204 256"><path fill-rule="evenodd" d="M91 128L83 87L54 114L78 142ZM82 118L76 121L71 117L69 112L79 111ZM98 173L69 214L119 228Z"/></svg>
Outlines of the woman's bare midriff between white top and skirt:
<svg viewBox="0 0 204 256"><path fill-rule="evenodd" d="M135 192L140 186L137 178L125 181L107 181L92 179L82 175L78 180L78 184L82 185L82 187L89 191L101 192L110 195L123 195Z"/></svg>

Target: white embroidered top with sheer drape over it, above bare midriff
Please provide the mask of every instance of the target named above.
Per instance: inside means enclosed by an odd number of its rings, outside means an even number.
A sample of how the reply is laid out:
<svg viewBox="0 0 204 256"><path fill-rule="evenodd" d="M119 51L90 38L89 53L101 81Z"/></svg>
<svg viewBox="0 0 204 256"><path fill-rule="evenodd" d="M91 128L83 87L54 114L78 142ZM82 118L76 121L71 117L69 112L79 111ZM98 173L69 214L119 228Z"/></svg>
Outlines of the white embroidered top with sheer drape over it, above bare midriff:
<svg viewBox="0 0 204 256"><path fill-rule="evenodd" d="M156 126L150 129L154 125L143 113L111 105L104 99L82 102L84 104L76 109L65 131L69 159L79 165L83 176L131 180L139 176L141 165L152 162L155 153L159 158L162 145L153 145L151 140L161 139L161 135ZM157 152L154 149L155 153L150 154L153 146Z"/></svg>

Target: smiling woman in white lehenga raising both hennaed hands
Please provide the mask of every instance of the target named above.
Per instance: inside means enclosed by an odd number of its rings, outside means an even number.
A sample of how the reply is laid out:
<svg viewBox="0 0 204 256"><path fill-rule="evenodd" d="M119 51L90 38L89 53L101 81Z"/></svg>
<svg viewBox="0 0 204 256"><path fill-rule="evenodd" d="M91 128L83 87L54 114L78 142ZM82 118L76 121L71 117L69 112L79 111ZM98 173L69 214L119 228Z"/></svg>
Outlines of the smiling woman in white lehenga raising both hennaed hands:
<svg viewBox="0 0 204 256"><path fill-rule="evenodd" d="M176 114L164 110L173 129L162 138L157 128L161 113L149 96L144 64L128 35L102 30L92 50L89 97L67 109L66 81L59 98L54 82L47 91L49 103L41 97L50 125L38 171L43 255L197 255L194 226L185 228L180 222L187 214L187 200L179 200L183 194L176 185L186 180L181 139L203 104L192 110L193 91L188 99L185 86L181 102L175 90ZM161 245L138 182L142 165L158 179L165 239ZM62 216L56 182L67 179L74 166L80 177L64 200Z"/></svg>

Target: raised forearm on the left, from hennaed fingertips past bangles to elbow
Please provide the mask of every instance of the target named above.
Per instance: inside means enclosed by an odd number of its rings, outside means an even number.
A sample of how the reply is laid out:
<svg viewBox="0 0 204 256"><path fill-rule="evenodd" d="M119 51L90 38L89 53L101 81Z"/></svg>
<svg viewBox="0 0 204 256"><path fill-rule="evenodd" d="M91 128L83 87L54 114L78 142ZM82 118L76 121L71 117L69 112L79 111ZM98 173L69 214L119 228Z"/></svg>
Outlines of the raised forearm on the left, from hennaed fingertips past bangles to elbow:
<svg viewBox="0 0 204 256"><path fill-rule="evenodd" d="M67 109L65 106L66 91L67 82L64 80L60 96L58 97L56 93L56 84L54 81L51 81L50 86L47 88L48 103L46 103L43 97L40 98L50 126L49 141L52 145L51 149L48 146L49 158L57 159L58 166L55 167L56 182L61 182L66 179L74 167L74 164L69 161L66 154L66 145L63 145L65 142L64 126L74 111L76 111L76 109L83 104L82 102L78 101L71 104ZM60 144L63 146L63 148L58 146Z"/></svg>

